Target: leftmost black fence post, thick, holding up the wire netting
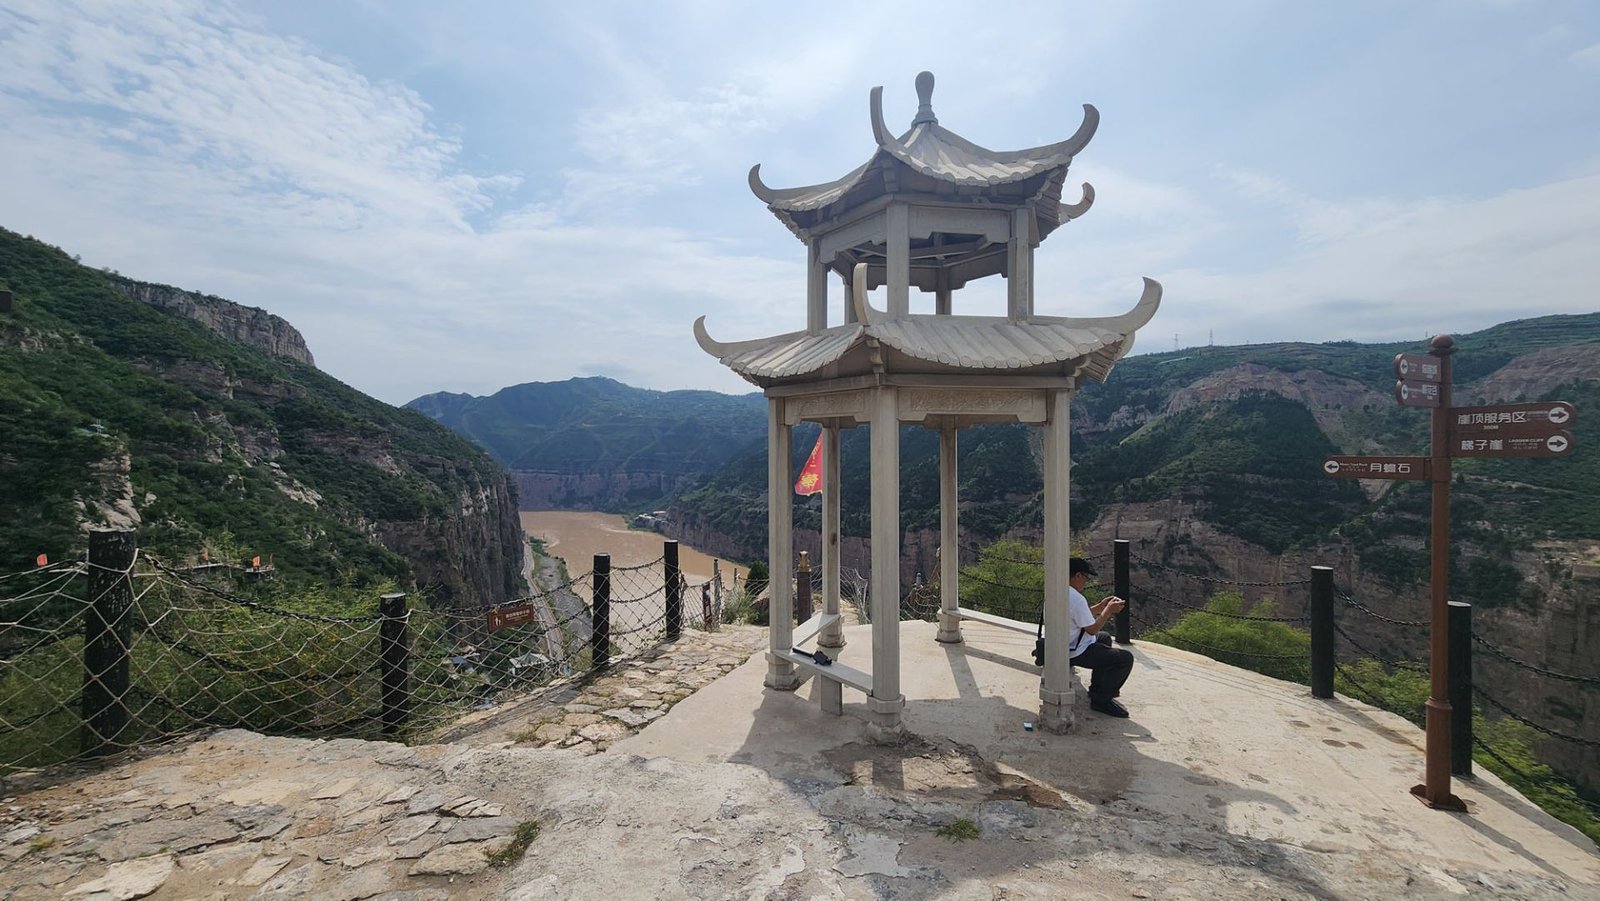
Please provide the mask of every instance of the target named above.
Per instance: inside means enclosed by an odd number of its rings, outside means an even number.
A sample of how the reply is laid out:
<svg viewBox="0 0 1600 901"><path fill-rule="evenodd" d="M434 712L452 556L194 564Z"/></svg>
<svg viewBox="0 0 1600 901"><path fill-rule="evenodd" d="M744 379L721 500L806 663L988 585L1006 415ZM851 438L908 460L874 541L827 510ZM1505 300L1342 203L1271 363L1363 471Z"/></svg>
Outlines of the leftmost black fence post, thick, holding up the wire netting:
<svg viewBox="0 0 1600 901"><path fill-rule="evenodd" d="M90 607L83 611L83 730L86 757L122 749L128 728L128 647L133 624L134 541L126 530L90 533Z"/></svg>

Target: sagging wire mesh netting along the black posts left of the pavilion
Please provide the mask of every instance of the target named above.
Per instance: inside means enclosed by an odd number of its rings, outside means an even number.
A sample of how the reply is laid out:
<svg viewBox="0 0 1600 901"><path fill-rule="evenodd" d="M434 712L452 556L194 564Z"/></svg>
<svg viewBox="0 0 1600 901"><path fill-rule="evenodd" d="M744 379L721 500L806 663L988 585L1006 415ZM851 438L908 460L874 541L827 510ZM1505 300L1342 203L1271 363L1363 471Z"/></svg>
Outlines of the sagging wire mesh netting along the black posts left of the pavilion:
<svg viewBox="0 0 1600 901"><path fill-rule="evenodd" d="M710 592L675 579L682 626L715 627L699 603ZM494 608L437 610L147 555L0 576L0 776L202 728L427 738L653 648L667 637L666 586L658 559Z"/></svg>

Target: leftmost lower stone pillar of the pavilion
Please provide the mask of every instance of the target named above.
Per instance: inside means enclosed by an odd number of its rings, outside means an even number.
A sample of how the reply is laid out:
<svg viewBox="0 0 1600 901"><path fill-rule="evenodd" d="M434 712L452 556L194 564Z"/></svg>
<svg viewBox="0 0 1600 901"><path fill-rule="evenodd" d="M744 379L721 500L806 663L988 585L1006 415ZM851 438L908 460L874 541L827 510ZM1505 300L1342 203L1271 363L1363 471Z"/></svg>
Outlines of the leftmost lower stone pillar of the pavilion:
<svg viewBox="0 0 1600 901"><path fill-rule="evenodd" d="M766 685L794 691L800 685L795 664L778 655L794 647L794 488L789 472L794 430L784 422L784 398L766 400L766 584L768 647Z"/></svg>

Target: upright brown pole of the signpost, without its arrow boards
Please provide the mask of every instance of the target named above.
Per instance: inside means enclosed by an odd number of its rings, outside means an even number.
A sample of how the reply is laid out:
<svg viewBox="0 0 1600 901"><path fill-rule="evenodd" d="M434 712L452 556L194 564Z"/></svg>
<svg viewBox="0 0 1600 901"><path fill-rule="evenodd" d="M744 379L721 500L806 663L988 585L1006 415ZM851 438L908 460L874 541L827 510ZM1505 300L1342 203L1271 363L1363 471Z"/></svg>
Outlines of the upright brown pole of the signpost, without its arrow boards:
<svg viewBox="0 0 1600 901"><path fill-rule="evenodd" d="M1427 770L1422 784L1411 794L1435 810L1466 810L1467 805L1450 794L1450 355L1454 339L1448 334L1434 338L1429 354L1438 357L1438 406L1434 408L1434 435L1430 440L1430 466L1434 477L1434 573L1432 573L1432 632L1434 656L1429 672L1434 677L1427 699ZM1472 715L1464 711L1462 715Z"/></svg>

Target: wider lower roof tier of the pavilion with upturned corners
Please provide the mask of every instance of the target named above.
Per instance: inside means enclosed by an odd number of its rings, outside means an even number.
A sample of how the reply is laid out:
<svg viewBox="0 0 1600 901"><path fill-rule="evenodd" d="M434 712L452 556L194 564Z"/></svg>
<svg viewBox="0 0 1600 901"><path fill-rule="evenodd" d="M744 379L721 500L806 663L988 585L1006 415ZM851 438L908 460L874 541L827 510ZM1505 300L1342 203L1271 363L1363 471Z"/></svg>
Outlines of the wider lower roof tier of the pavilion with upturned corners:
<svg viewBox="0 0 1600 901"><path fill-rule="evenodd" d="M861 322L819 331L722 342L710 338L706 317L699 317L694 320L694 338L707 354L762 387L882 370L1086 374L1106 381L1117 360L1133 347L1134 331L1155 315L1162 285L1146 278L1144 293L1131 310L1098 318L888 317L870 309L864 293L858 293L854 302Z"/></svg>

